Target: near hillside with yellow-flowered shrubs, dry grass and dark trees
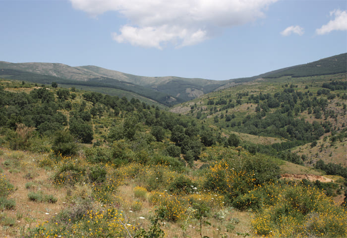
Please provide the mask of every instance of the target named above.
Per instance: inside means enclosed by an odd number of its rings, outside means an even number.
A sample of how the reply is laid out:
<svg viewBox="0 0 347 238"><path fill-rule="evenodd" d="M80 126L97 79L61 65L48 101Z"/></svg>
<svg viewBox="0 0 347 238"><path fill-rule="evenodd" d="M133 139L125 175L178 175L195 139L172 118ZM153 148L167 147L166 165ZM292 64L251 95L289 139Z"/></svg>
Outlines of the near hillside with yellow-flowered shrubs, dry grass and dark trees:
<svg viewBox="0 0 347 238"><path fill-rule="evenodd" d="M1 80L0 237L347 236L346 168L325 180L292 155L249 146L292 138L257 139L210 120Z"/></svg>

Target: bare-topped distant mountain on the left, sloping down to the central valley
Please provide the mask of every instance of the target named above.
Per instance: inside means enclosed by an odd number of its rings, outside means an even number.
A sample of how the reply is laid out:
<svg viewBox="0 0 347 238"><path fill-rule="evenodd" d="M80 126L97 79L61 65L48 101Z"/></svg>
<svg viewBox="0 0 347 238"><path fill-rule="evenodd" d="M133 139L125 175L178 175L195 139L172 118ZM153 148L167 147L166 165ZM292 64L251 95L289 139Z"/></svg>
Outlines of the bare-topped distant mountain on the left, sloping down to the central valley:
<svg viewBox="0 0 347 238"><path fill-rule="evenodd" d="M0 75L37 83L111 87L134 92L167 106L194 99L224 84L200 78L145 77L97 66L71 67L61 63L10 63L0 61Z"/></svg>

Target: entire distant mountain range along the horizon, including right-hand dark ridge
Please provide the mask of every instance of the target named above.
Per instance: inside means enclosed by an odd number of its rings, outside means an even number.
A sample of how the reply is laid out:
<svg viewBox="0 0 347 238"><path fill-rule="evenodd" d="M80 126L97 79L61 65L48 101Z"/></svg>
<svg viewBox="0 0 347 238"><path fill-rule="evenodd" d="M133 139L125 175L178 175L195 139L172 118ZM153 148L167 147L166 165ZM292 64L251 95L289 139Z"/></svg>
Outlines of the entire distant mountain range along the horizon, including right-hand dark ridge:
<svg viewBox="0 0 347 238"><path fill-rule="evenodd" d="M253 77L223 81L175 76L146 77L93 65L71 67L61 63L11 63L0 61L0 77L40 84L84 86L94 91L111 88L131 92L166 106L189 101L203 94L257 78L302 77L347 72L347 53L278 69Z"/></svg>

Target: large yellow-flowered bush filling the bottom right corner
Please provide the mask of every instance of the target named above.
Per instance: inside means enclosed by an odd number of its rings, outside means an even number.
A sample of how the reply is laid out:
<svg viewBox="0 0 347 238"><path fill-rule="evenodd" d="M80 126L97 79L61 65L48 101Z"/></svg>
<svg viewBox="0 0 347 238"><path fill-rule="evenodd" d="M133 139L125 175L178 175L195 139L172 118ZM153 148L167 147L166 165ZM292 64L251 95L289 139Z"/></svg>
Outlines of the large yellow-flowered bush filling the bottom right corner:
<svg viewBox="0 0 347 238"><path fill-rule="evenodd" d="M252 226L262 236L343 238L347 212L320 190L285 185L275 204L258 213Z"/></svg>

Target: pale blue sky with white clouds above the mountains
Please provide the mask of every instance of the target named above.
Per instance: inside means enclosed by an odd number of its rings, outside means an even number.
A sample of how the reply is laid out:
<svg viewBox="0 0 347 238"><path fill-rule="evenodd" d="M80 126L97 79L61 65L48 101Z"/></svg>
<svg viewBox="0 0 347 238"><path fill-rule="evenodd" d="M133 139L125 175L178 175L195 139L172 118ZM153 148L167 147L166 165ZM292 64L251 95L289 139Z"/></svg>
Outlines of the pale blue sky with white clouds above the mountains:
<svg viewBox="0 0 347 238"><path fill-rule="evenodd" d="M346 52L346 0L0 0L0 61L227 80Z"/></svg>

